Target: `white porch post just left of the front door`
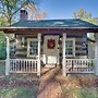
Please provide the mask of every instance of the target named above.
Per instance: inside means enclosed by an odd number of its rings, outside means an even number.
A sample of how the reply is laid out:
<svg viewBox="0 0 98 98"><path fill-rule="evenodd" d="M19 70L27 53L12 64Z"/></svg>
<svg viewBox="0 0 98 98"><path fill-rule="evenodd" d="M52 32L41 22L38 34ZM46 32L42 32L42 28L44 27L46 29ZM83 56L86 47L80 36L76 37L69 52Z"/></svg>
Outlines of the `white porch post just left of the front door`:
<svg viewBox="0 0 98 98"><path fill-rule="evenodd" d="M41 34L38 34L38 63L37 63L37 76L40 76L40 40Z"/></svg>

